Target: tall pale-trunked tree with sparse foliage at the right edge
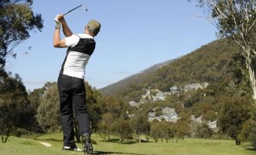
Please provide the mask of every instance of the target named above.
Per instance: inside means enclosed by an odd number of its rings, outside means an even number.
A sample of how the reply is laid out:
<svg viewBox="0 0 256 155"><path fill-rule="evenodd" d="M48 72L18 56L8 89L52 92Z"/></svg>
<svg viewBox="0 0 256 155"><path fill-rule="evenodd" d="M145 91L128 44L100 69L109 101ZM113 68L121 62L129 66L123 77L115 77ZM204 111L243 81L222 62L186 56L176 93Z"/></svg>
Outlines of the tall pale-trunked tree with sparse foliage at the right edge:
<svg viewBox="0 0 256 155"><path fill-rule="evenodd" d="M254 0L198 0L209 14L219 35L231 38L241 49L256 100L254 58L256 56L256 3ZM254 103L256 104L256 102Z"/></svg>

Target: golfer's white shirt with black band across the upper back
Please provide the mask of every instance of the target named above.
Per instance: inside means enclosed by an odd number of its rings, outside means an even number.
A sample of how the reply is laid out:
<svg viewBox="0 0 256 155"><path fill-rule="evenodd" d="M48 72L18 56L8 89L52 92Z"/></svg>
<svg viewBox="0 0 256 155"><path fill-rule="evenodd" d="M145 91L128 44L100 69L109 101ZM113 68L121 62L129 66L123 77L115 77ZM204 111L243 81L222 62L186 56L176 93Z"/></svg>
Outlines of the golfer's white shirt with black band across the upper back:
<svg viewBox="0 0 256 155"><path fill-rule="evenodd" d="M76 34L66 37L66 57L61 73L76 78L85 78L85 65L95 49L95 41L91 35Z"/></svg>

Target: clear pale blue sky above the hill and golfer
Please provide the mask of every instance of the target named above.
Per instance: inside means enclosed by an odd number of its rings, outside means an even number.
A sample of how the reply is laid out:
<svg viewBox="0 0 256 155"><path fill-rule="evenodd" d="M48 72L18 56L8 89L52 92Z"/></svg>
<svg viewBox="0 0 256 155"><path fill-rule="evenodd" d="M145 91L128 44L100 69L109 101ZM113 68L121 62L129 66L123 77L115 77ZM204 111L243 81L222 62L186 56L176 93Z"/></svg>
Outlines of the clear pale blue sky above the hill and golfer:
<svg viewBox="0 0 256 155"><path fill-rule="evenodd" d="M44 28L32 30L16 47L17 58L8 57L5 67L20 74L26 90L57 81L66 49L53 47L54 17L81 4L88 12L78 8L65 19L73 34L83 33L88 20L101 23L85 68L85 81L97 89L217 39L217 30L195 0L34 0L32 11L42 14Z"/></svg>

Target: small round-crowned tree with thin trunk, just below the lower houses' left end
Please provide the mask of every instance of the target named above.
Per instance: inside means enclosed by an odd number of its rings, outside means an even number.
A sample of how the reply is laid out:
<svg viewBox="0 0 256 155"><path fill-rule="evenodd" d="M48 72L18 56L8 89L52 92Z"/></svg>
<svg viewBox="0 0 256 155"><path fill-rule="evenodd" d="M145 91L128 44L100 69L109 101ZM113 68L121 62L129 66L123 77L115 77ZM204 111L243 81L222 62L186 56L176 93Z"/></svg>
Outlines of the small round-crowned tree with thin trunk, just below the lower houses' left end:
<svg viewBox="0 0 256 155"><path fill-rule="evenodd" d="M139 136L139 142L141 142L141 135L149 135L150 133L150 123L148 122L147 114L141 113L136 114L131 119L132 127L134 132Z"/></svg>

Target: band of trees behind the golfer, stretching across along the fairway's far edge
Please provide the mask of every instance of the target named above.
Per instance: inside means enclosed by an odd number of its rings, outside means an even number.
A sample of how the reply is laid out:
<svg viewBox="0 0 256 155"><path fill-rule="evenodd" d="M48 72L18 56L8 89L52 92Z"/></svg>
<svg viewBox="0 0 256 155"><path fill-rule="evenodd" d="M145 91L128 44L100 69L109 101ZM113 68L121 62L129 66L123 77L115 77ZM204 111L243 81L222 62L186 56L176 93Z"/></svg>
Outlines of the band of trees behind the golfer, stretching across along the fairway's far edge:
<svg viewBox="0 0 256 155"><path fill-rule="evenodd" d="M21 81L20 86L23 86ZM23 109L29 111L23 111L23 114L17 115L14 109L8 108L8 111L2 113L7 116L3 117L5 118L3 124L6 126L2 126L8 130L6 135L20 136L29 133L60 132L57 84L47 83L41 89L35 89L29 94L26 93L25 87L22 88L25 92L23 97L16 97L16 99L21 101L26 99L25 101L29 103L20 105L16 111ZM234 138L238 144L240 141L253 141L251 133L253 124L249 114L251 100L245 96L227 96L224 94L218 101L215 101L217 96L214 94L220 88L214 84L210 84L205 90L187 92L180 94L180 96L171 95L165 101L140 105L139 108L131 107L127 102L115 97L102 96L88 83L85 84L85 88L88 113L91 116L91 129L105 141L112 141L116 136L120 142L131 139L139 142L141 140L150 141L150 138L156 142L168 142L171 139L177 141L187 137L214 138L217 135ZM17 91L21 92L19 89ZM211 95L205 95L206 93ZM208 103L211 100L212 102ZM166 120L149 122L148 112L166 106L176 109L180 117L177 123L170 123ZM209 112L216 111L216 109L219 109L217 114ZM196 114L196 117L203 115L202 123L193 122L190 117L191 114ZM19 117L19 119L13 119L13 117ZM207 125L208 120L215 119L217 119L218 132L214 132ZM23 126L24 124L26 126ZM76 119L74 130L77 141L80 141Z"/></svg>

